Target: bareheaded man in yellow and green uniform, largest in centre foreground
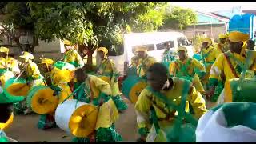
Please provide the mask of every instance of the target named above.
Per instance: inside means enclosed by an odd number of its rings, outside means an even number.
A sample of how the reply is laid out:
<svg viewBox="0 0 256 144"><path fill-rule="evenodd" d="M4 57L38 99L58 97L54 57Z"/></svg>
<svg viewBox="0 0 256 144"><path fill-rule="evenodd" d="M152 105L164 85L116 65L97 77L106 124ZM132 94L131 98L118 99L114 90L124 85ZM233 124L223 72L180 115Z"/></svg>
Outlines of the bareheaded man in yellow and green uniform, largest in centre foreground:
<svg viewBox="0 0 256 144"><path fill-rule="evenodd" d="M146 76L149 86L135 104L141 135L138 141L195 142L197 119L207 111L202 95L191 82L168 78L168 70L161 63L150 66Z"/></svg>

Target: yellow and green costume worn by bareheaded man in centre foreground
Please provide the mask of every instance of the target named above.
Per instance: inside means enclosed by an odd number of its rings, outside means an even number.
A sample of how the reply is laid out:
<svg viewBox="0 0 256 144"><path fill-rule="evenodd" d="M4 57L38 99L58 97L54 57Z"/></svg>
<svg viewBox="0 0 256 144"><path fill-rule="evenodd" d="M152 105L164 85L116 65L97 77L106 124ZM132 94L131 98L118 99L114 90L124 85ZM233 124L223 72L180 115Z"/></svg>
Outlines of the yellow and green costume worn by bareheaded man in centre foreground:
<svg viewBox="0 0 256 144"><path fill-rule="evenodd" d="M190 105L194 111L192 119L200 118L207 111L205 100L194 86L191 86L191 82L175 77L169 78L169 81L174 82L170 90L157 92L147 87L142 90L136 102L138 131L139 134L147 137L147 142L182 142L182 139L177 139L179 135L175 134L193 135L195 131L194 127L193 130L188 128L186 129L188 131L178 132L178 130L185 130L179 126L184 122L183 116L190 113ZM187 119L186 122L188 122ZM196 122L194 124L196 125ZM190 139L189 142L195 141L192 135L185 135L183 136L187 136L187 140ZM183 141L186 142L185 139Z"/></svg>

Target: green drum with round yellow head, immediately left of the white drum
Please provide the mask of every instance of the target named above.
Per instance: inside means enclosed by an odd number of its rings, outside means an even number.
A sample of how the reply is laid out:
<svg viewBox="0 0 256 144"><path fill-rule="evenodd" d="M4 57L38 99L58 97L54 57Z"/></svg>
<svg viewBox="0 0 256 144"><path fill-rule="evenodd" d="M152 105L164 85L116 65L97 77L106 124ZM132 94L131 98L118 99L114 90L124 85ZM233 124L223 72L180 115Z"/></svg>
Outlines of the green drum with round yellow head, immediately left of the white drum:
<svg viewBox="0 0 256 144"><path fill-rule="evenodd" d="M58 106L58 96L48 86L34 86L27 98L26 105L37 114L50 114Z"/></svg>

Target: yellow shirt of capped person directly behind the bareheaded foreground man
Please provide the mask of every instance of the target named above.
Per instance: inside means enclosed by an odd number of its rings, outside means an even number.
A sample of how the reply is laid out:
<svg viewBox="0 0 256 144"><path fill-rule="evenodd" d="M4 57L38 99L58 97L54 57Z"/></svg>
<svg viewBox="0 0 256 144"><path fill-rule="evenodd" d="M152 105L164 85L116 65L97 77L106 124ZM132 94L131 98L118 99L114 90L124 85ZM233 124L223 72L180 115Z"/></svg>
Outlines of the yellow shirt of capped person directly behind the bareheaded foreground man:
<svg viewBox="0 0 256 144"><path fill-rule="evenodd" d="M139 62L140 64L137 66L138 77L145 76L146 70L148 70L150 68L150 66L152 66L155 62L157 62L156 59L153 57L150 57L150 56L146 56L146 58L142 58L141 62Z"/></svg>

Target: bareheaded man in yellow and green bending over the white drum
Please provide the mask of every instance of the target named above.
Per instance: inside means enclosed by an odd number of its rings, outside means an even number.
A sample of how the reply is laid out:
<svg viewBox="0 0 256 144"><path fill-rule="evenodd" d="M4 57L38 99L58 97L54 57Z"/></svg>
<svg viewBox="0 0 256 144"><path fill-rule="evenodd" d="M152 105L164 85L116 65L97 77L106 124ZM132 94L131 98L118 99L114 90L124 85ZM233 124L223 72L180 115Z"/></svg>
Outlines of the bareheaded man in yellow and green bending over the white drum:
<svg viewBox="0 0 256 144"><path fill-rule="evenodd" d="M114 128L113 119L118 118L118 109L114 105L113 100L110 98L112 90L108 82L103 81L101 78L98 78L94 75L86 74L84 70L78 69L75 71L75 78L78 79L78 83L81 85L78 89L85 91L86 103L90 103L94 106L100 106L105 102L112 101L112 104L109 105L111 113L98 114L97 123L93 134L90 134L87 138L74 138L72 142L118 142L122 141L122 136ZM104 111L104 110L103 110ZM111 116L112 115L112 116Z"/></svg>

